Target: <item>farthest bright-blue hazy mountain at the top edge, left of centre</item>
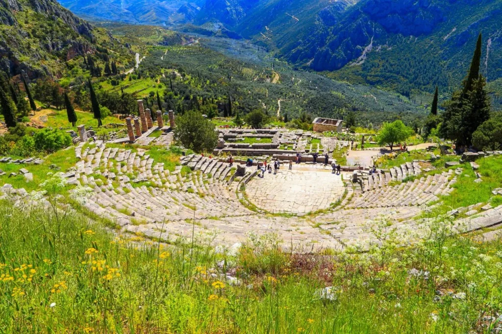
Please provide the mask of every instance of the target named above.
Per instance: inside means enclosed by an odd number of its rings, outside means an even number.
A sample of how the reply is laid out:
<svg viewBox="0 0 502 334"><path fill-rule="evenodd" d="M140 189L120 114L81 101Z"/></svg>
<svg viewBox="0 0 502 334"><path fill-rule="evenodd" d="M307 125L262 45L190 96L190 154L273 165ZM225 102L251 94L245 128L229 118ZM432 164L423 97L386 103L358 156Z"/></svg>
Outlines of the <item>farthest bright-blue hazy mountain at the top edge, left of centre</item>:
<svg viewBox="0 0 502 334"><path fill-rule="evenodd" d="M192 22L204 0L60 0L77 15L99 21L170 26Z"/></svg>

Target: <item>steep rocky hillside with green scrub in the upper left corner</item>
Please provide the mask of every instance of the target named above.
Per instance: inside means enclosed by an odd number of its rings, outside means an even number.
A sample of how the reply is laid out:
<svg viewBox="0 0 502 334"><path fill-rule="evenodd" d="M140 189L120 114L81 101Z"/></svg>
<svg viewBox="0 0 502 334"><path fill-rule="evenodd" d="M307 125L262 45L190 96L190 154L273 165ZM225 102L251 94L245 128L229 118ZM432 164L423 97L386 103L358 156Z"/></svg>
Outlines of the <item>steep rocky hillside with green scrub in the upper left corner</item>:
<svg viewBox="0 0 502 334"><path fill-rule="evenodd" d="M67 61L97 50L129 53L55 0L0 0L0 22L0 68L12 76L59 76Z"/></svg>

